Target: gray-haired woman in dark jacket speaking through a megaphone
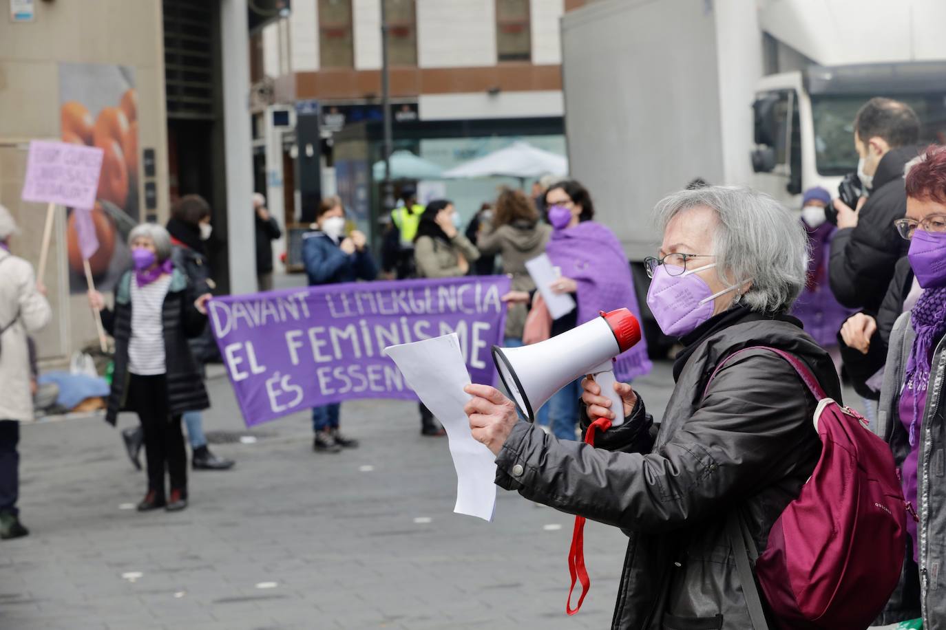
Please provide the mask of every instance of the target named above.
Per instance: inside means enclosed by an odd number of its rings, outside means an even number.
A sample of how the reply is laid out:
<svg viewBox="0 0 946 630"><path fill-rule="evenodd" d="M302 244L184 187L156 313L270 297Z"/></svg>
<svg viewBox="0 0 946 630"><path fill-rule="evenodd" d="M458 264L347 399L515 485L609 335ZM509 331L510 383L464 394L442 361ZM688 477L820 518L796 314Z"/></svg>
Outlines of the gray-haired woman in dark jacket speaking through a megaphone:
<svg viewBox="0 0 946 630"><path fill-rule="evenodd" d="M583 428L588 417L625 418L594 447L519 420L492 387L467 386L466 412L497 455L497 485L628 536L612 627L752 627L745 593L755 585L740 577L727 523L764 549L821 451L817 401L771 349L808 366L835 400L840 384L827 352L786 315L808 255L791 213L746 188L709 186L666 197L657 215L663 243L646 262L647 301L684 347L662 421L624 383L623 409L610 409L590 379Z"/></svg>

